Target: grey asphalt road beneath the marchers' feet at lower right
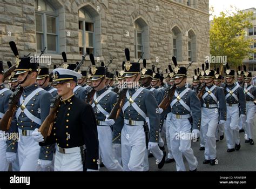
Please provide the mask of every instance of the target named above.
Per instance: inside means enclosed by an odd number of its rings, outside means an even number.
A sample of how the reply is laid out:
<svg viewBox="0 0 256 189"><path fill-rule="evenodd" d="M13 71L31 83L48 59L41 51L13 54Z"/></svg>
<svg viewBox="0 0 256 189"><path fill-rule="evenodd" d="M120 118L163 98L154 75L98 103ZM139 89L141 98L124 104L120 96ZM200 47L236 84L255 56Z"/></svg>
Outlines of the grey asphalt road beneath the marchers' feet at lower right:
<svg viewBox="0 0 256 189"><path fill-rule="evenodd" d="M253 139L256 142L256 116L254 117ZM199 141L192 142L192 149L194 155L198 160L198 171L256 171L256 144L250 145L245 143L244 132L240 133L241 149L227 153L226 138L217 142L217 159L218 165L211 166L210 164L203 164L204 151L199 151ZM167 150L167 147L165 146ZM188 164L184 158L187 171ZM176 171L175 163L165 164L161 170L157 168L156 159L149 158L150 171ZM103 167L100 171L106 171Z"/></svg>

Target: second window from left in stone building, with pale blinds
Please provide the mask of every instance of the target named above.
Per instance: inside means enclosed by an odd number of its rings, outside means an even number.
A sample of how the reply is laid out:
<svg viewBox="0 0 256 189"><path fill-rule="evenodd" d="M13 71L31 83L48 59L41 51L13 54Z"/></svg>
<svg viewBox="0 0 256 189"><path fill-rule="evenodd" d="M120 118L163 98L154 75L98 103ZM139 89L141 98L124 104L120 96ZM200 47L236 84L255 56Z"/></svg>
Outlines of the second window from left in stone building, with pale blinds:
<svg viewBox="0 0 256 189"><path fill-rule="evenodd" d="M78 44L80 55L85 52L90 54L94 52L95 46L95 29L93 17L83 9L78 12Z"/></svg>

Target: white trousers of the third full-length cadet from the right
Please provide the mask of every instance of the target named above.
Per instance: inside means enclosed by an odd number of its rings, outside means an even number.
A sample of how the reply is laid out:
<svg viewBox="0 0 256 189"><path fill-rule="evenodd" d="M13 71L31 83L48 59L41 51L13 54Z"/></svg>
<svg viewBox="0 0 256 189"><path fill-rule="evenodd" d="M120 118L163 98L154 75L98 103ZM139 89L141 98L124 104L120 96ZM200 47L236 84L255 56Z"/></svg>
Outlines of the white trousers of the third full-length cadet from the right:
<svg viewBox="0 0 256 189"><path fill-rule="evenodd" d="M203 136L206 140L205 143L205 159L215 159L216 158L216 139L215 131L217 129L219 121L218 109L207 109L202 108L202 118L201 127L203 130Z"/></svg>

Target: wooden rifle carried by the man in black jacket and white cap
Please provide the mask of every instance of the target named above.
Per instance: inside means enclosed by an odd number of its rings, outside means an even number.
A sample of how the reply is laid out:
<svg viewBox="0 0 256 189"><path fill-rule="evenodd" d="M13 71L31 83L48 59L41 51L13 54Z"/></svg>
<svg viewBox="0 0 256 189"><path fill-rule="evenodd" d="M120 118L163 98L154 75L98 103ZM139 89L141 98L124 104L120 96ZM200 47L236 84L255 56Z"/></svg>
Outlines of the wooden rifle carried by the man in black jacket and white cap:
<svg viewBox="0 0 256 189"><path fill-rule="evenodd" d="M60 98L61 98L61 96L57 95L56 97L54 97L51 100L49 115L45 118L44 122L39 127L38 131L41 132L41 134L43 135L44 141L51 134L53 122L54 122L54 119L55 119L55 116L56 116L56 113L57 113L57 110L58 110L58 107L60 104Z"/></svg>

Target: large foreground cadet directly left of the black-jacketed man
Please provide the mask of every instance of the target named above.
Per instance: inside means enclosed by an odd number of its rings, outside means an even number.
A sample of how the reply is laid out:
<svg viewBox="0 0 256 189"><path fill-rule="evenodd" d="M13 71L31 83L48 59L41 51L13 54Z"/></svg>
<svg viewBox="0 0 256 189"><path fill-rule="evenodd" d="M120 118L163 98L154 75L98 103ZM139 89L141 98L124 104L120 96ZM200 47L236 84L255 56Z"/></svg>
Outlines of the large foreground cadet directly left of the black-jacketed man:
<svg viewBox="0 0 256 189"><path fill-rule="evenodd" d="M16 127L19 132L18 159L20 171L39 171L38 158L43 157L42 149L34 140L32 132L41 126L42 121L48 116L52 95L46 92L36 83L38 64L33 63L30 57L20 58L16 69L16 75L21 87L24 87L21 98L17 104L15 114ZM11 125L13 127L13 125ZM6 155L15 159L17 146L12 140L8 141ZM49 149L49 156L53 156L53 150ZM47 158L46 158L47 159ZM46 161L47 162L47 161Z"/></svg>

